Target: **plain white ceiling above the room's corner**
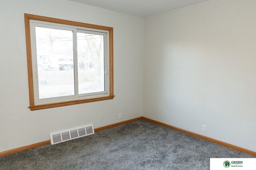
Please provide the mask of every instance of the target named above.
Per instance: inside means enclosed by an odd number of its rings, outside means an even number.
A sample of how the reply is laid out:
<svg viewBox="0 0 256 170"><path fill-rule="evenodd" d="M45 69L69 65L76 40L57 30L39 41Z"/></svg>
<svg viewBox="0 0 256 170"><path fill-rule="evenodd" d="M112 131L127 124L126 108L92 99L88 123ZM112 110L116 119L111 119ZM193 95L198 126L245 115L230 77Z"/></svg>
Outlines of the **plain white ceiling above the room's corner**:
<svg viewBox="0 0 256 170"><path fill-rule="evenodd" d="M70 0L146 18L208 0Z"/></svg>

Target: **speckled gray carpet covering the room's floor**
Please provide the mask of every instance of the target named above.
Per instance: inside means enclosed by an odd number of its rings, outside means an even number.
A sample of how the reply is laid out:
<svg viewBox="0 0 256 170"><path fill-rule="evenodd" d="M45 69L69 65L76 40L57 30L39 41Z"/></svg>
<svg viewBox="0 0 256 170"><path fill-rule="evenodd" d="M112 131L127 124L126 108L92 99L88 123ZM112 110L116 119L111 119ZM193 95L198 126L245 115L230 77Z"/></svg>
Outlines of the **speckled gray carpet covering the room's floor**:
<svg viewBox="0 0 256 170"><path fill-rule="evenodd" d="M210 158L254 158L139 120L0 157L2 170L209 170Z"/></svg>

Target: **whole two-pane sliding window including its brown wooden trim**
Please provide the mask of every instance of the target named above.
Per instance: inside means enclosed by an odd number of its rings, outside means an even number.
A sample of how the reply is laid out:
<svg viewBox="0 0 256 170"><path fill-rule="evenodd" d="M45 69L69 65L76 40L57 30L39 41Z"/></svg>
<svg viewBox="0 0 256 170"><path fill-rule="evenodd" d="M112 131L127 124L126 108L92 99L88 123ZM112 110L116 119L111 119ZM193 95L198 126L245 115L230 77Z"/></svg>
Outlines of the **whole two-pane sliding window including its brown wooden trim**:
<svg viewBox="0 0 256 170"><path fill-rule="evenodd" d="M113 28L25 14L31 110L114 98Z"/></svg>

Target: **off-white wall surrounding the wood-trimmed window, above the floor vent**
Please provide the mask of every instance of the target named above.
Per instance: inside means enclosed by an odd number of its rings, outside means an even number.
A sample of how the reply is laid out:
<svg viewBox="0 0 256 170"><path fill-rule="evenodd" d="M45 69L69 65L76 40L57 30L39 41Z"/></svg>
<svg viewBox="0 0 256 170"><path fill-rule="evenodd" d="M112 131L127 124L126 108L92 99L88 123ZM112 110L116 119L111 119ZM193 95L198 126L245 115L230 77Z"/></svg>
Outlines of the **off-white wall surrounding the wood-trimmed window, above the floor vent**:
<svg viewBox="0 0 256 170"><path fill-rule="evenodd" d="M114 27L114 100L30 111L24 13ZM1 0L0 23L0 152L142 116L142 18L67 0Z"/></svg>

